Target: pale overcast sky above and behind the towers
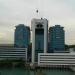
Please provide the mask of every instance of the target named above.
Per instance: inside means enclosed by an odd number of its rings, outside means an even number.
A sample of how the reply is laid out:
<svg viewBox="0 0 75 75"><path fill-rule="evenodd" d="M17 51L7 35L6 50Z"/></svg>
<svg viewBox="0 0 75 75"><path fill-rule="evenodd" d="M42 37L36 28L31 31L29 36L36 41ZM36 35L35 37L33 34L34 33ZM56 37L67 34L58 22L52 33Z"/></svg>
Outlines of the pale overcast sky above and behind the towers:
<svg viewBox="0 0 75 75"><path fill-rule="evenodd" d="M63 26L66 44L75 44L75 0L0 0L0 44L14 43L15 26L30 26L40 17L49 20L49 27Z"/></svg>

